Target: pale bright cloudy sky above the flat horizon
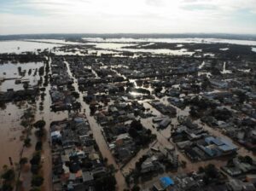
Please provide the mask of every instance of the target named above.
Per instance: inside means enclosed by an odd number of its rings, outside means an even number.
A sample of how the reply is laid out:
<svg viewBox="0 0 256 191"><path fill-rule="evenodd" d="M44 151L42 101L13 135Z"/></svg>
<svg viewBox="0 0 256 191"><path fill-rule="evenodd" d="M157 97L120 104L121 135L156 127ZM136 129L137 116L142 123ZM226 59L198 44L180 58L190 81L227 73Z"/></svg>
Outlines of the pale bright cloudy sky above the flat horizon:
<svg viewBox="0 0 256 191"><path fill-rule="evenodd" d="M256 0L0 0L0 35L256 34Z"/></svg>

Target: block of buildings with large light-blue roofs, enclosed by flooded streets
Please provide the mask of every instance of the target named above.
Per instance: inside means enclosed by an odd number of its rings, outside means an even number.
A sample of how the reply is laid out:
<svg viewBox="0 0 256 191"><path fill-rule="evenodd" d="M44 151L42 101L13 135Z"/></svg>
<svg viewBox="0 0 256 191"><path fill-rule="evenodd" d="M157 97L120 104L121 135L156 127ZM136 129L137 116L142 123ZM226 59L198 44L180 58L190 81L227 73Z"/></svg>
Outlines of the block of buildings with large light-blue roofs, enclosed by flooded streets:
<svg viewBox="0 0 256 191"><path fill-rule="evenodd" d="M192 161L207 160L232 155L237 146L224 137L211 136L197 124L186 119L172 132L172 141Z"/></svg>

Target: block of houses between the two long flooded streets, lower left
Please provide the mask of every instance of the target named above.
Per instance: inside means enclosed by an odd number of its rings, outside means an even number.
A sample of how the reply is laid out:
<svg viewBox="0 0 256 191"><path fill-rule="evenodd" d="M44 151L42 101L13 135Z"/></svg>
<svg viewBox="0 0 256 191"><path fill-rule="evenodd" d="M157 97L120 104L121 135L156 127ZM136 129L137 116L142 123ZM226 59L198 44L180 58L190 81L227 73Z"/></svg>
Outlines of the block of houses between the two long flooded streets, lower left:
<svg viewBox="0 0 256 191"><path fill-rule="evenodd" d="M53 190L95 190L108 168L96 147L84 115L50 125Z"/></svg>

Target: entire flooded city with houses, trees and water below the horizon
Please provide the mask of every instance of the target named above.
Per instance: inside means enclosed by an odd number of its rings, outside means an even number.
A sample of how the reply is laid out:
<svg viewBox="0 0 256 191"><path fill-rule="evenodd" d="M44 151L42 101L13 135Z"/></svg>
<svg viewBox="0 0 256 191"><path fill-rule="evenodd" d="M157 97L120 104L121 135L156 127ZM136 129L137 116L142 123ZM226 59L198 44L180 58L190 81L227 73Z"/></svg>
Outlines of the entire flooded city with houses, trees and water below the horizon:
<svg viewBox="0 0 256 191"><path fill-rule="evenodd" d="M0 41L0 190L227 190L235 177L249 185L255 42Z"/></svg>

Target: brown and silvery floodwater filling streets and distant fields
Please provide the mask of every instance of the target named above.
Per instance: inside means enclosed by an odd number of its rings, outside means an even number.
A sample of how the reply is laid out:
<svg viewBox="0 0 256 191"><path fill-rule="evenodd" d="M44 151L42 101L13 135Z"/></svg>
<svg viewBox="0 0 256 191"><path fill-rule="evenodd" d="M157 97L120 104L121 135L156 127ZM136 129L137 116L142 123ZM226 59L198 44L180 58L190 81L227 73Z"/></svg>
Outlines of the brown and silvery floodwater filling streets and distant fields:
<svg viewBox="0 0 256 191"><path fill-rule="evenodd" d="M58 46L58 44L53 44L51 42L64 43L64 42L62 42L62 40L56 40L56 41L55 40L54 41L46 40L45 42L47 42L47 43L34 43L34 42L32 43L32 42L24 42L24 41L4 41L4 42L0 42L0 53L4 52L4 51L9 51L9 52L15 51L16 53L20 53L22 51L37 51L38 48L39 49L48 49L48 48L52 49L53 47ZM101 41L99 41L99 42L101 42ZM147 41L147 42L150 42L150 41ZM7 44L7 46L2 46L4 44ZM99 51L102 51L102 53L103 53L103 51L111 52L112 50L108 50L108 49L113 49L113 46L115 46L115 49L125 50L125 48L123 48L123 45L130 44L130 43L126 43L126 42L123 44L119 43L119 45L116 45L115 43L114 44L106 43L106 44L108 44L108 46L110 46L110 44L112 44L112 48L111 48L111 46L108 47L106 45L106 47L102 47L102 48L104 48L102 50L91 50L91 51L97 51L97 54L99 54ZM18 47L20 47L20 49L17 49ZM26 49L26 50L24 50L24 49ZM255 49L255 48L253 48L253 49ZM138 52L143 49L129 49L129 50ZM148 49L145 49L145 50L148 51ZM170 49L168 49L168 50L170 50ZM168 54L167 52L163 53L162 49L159 49L159 50L154 49L154 51L159 51L157 54ZM164 51L166 51L166 50L164 50ZM174 50L172 50L172 51L174 51ZM177 50L177 51L179 51L179 50ZM106 52L104 52L104 53L106 53ZM181 54L183 54L183 53L184 54L187 53L185 49L183 50L183 52ZM66 54L66 53L64 53L64 54ZM172 54L172 53L170 53L170 54ZM202 62L200 67L203 67L204 64L205 63ZM33 77L33 72L36 68L39 68L42 66L43 66L43 63L33 63L33 62L30 62L27 64L13 64L13 63L3 64L3 65L0 65L0 78L20 78L20 76L18 74L18 67L21 67L21 70L26 70L26 75L23 78L28 78L30 80L30 84L36 84L39 77L38 77L38 75ZM32 69L32 74L29 76L27 72L28 72L28 69L30 69L30 68ZM67 63L67 69L68 69L67 72L69 73L69 75L72 78L74 78L73 73L69 69L68 63ZM112 69L114 70L114 67ZM227 71L227 70L225 70L225 63L224 63L224 71ZM5 73L3 73L3 72L5 72ZM134 82L136 84L135 80L131 80L131 82ZM89 105L83 101L84 95L78 89L78 84L77 84L76 78L74 78L73 85L74 85L75 89L79 92L79 95L80 95L79 101L82 104L82 111L84 111L84 109L85 109L85 115L90 123L90 128L91 128L93 135L96 139L96 142L100 148L100 151L102 152L103 157L108 159L109 165L113 165L118 170L115 173L115 177L118 180L118 184L117 184L118 190L123 190L124 188L126 188L125 177L123 174L128 173L131 170L131 168L134 168L135 163L137 162L137 159L139 159L144 153L147 153L149 148L142 149L139 153L137 153L136 158L131 159L131 161L127 165L125 165L125 167L121 171L119 169L119 165L116 163L115 159L113 158L112 153L108 149L108 143L104 140L104 137L102 136L101 125L97 124L96 119L94 119L93 116L90 116ZM20 86L20 84L15 84L15 80L8 80L8 81L4 81L2 84L0 84L0 91L7 90L9 88L14 88L15 90L20 90L21 87L22 86ZM33 106L36 108L35 120L44 119L46 121L46 129L47 130L49 130L49 124L52 121L68 118L67 112L52 113L49 111L49 107L51 105L49 89L50 89L50 85L46 87L46 91L45 91L46 96L44 99L44 111L38 110L39 102L41 102L40 98L38 98L38 100L36 101L36 104ZM152 89L148 88L148 90L152 90ZM169 104L166 100L167 100L166 97L163 97L160 99L160 101L162 101L163 103ZM143 105L144 105L144 107L149 108L150 111L153 114L155 114L156 116L162 116L162 114L159 113L156 109L154 109L154 107L151 107L147 101L143 101ZM20 117L27 106L28 106L28 104L25 101L25 102L23 102L23 104L20 104L20 106L17 106L14 103L8 103L8 104L6 104L5 109L0 109L0 121L1 121L0 144L5 146L5 147L0 148L0 152L1 152L0 167L3 165L9 165L9 157L12 157L14 163L17 163L20 159L20 151L22 149L22 144L23 144L23 142L20 141L20 138L22 138L22 130L24 129L23 127L20 126ZM186 108L184 110L177 108L177 115L187 116L188 114L189 114L188 108ZM152 130L152 133L154 133L157 136L158 144L164 145L166 147L174 147L174 148L176 147L175 144L169 140L169 137L171 136L171 128L172 128L171 125L169 125L165 130L157 130L153 126L155 124L153 124L152 118L141 119L141 120L142 120L142 124L146 128ZM214 130L205 124L201 124L201 121L199 121L199 120L195 121L195 123L202 125L206 130L211 132L211 134L213 136L224 136L218 130ZM176 118L172 119L172 124L174 124L174 125L177 124ZM224 136L224 137L226 137L226 136ZM34 145L37 142L37 139L34 136L34 130L32 131L31 138L32 138L33 147L26 148L23 152L23 156L26 156L28 158L31 158L32 153L34 151ZM44 164L43 164L42 173L44 173L45 180L44 180L44 185L43 185L42 190L45 190L45 191L52 190L51 149L50 149L48 140L49 140L49 135L46 137L46 140L44 142L44 151L43 151ZM154 144L154 142L151 143L150 146L152 146L153 144ZM12 149L9 149L9 148L12 148ZM214 165L217 165L217 166L221 166L226 163L226 161L222 160L222 159L213 159L213 160L209 160L209 161L201 161L201 162L191 163L191 161L189 159L187 159L187 157L183 153L181 153L179 150L176 149L176 152L179 156L179 159L187 162L187 167L185 169L179 169L179 172L196 171L199 166L207 165L209 163L213 163ZM253 153L248 152L246 148L241 148L238 151L238 153L249 154L249 155L253 156ZM24 190L29 190L30 189L30 181L31 181L31 177L32 177L32 174L30 173L30 171L22 171L20 177L22 177L22 179L25 180L24 185L23 185Z"/></svg>

